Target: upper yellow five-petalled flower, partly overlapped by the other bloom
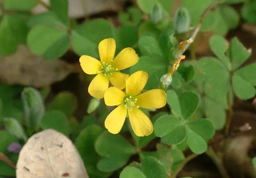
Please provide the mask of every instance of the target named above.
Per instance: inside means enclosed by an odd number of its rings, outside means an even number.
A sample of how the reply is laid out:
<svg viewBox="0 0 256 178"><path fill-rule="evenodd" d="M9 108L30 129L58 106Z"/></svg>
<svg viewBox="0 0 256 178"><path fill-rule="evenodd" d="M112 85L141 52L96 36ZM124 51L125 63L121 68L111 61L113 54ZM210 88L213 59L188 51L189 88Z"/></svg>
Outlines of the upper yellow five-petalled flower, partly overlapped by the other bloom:
<svg viewBox="0 0 256 178"><path fill-rule="evenodd" d="M124 48L115 58L116 42L113 38L104 39L98 46L100 61L83 55L80 57L80 65L86 74L97 74L89 85L88 92L94 98L103 98L108 89L109 81L113 86L123 89L128 74L119 72L133 66L139 60L132 48Z"/></svg>

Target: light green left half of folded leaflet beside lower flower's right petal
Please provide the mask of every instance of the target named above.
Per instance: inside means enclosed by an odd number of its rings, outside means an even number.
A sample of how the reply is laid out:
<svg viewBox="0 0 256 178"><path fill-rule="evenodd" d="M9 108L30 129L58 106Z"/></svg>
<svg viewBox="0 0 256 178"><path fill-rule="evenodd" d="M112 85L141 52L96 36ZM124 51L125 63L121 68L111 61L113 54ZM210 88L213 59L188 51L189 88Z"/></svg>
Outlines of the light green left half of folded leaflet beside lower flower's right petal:
<svg viewBox="0 0 256 178"><path fill-rule="evenodd" d="M166 92L167 95L167 103L170 105L172 114L177 116L182 116L180 111L180 102L179 98L174 90L168 90Z"/></svg>

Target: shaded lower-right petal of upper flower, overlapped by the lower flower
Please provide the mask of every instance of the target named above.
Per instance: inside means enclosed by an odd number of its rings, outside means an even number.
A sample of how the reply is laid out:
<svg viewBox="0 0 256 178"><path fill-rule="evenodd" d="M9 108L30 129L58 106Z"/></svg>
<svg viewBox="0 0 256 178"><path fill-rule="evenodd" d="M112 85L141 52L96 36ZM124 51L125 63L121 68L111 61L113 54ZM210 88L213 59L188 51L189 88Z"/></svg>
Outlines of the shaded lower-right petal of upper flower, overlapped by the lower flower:
<svg viewBox="0 0 256 178"><path fill-rule="evenodd" d="M112 72L112 75L109 76L109 80L113 86L122 90L125 87L128 74L123 74L121 72Z"/></svg>

